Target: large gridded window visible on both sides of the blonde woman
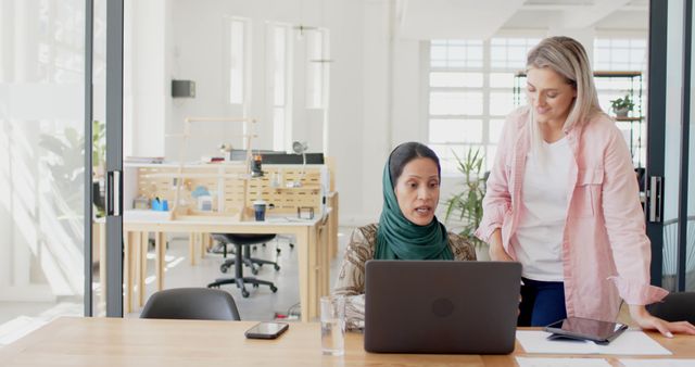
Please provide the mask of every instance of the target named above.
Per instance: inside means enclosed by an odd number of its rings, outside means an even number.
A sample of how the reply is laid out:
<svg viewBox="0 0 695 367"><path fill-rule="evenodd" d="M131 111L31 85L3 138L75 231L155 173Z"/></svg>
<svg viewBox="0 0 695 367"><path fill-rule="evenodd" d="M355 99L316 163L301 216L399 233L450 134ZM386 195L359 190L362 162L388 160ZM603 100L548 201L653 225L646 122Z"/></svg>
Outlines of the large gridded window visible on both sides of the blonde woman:
<svg viewBox="0 0 695 367"><path fill-rule="evenodd" d="M484 153L485 167L494 161L505 116L526 104L522 80L528 51L541 37L496 37L482 40L432 40L429 47L428 141L442 160L442 170L456 173L455 155L469 149ZM610 101L629 94L635 107L618 126L631 147L635 166L646 151L644 106L646 92L646 36L598 37L593 45L594 69L603 72L596 88L602 107L612 113ZM610 74L616 74L609 77ZM606 76L608 75L608 76ZM515 93L515 83L517 92Z"/></svg>

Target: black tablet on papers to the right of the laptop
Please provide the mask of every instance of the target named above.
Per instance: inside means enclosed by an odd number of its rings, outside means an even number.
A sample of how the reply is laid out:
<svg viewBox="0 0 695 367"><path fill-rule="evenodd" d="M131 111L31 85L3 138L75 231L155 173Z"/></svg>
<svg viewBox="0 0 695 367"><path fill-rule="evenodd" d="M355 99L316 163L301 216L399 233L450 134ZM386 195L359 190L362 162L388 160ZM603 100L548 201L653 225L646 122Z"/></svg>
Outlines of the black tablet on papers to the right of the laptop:
<svg viewBox="0 0 695 367"><path fill-rule="evenodd" d="M581 317L568 317L543 328L543 330L553 333L548 339L581 339L591 340L598 344L610 343L626 329L628 329L628 326L623 324Z"/></svg>

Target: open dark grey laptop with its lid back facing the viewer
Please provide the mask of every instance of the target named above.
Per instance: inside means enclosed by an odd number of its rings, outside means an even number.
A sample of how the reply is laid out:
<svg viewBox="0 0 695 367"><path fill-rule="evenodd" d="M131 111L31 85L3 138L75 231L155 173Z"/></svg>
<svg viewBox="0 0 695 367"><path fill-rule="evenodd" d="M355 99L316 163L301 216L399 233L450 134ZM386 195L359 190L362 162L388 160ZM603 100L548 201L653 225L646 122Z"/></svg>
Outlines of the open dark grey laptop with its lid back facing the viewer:
<svg viewBox="0 0 695 367"><path fill-rule="evenodd" d="M519 263L372 260L365 282L367 352L514 351Z"/></svg>

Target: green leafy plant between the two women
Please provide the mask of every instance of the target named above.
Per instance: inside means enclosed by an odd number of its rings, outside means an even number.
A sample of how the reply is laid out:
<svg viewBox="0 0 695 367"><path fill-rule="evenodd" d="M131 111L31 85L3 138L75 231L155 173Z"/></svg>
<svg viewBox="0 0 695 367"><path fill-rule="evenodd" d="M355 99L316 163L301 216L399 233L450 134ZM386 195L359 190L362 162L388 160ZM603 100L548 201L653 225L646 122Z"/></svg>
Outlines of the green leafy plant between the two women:
<svg viewBox="0 0 695 367"><path fill-rule="evenodd" d="M464 188L446 201L444 222L455 216L462 222L460 236L468 238L476 246L485 243L480 241L473 232L482 220L482 200L485 195L485 177L481 175L483 155L480 150L469 149L464 160L454 153L457 169L464 174Z"/></svg>

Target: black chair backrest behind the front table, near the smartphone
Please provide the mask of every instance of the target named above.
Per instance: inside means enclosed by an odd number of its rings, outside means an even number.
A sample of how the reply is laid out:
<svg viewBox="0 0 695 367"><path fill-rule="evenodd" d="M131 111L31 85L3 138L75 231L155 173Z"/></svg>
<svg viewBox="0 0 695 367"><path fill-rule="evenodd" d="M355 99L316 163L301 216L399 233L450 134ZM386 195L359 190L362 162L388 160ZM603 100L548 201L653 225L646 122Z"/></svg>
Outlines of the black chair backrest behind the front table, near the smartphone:
<svg viewBox="0 0 695 367"><path fill-rule="evenodd" d="M140 318L240 320L231 294L208 288L175 288L148 300Z"/></svg>

